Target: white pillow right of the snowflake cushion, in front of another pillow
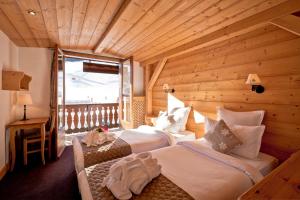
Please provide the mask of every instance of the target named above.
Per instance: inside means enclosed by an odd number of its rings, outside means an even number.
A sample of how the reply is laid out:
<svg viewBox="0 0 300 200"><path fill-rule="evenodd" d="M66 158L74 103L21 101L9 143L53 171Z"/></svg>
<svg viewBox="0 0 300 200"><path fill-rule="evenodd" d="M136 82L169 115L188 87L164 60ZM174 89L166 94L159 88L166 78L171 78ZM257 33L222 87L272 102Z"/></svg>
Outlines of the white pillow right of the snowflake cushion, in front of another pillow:
<svg viewBox="0 0 300 200"><path fill-rule="evenodd" d="M245 158L257 158L265 126L234 125L230 127L230 130L242 142L241 145L236 146L231 152Z"/></svg>

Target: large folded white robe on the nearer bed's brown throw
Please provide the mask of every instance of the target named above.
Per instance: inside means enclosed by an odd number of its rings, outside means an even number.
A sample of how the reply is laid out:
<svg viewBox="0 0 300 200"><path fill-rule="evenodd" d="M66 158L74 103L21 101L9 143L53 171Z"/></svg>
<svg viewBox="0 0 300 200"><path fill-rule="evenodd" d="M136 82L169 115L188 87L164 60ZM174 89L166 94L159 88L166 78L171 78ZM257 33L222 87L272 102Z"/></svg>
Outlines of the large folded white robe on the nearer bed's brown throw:
<svg viewBox="0 0 300 200"><path fill-rule="evenodd" d="M102 186L106 186L117 199L130 199L132 193L140 194L160 172L161 166L151 153L133 154L111 166Z"/></svg>

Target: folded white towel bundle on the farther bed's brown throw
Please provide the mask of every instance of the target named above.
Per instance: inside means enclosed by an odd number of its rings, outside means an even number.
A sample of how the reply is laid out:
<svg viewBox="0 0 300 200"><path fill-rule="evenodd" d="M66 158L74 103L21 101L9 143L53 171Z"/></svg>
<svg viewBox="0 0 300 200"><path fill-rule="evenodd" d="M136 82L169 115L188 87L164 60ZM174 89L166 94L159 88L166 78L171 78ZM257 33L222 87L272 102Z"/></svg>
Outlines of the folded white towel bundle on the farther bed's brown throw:
<svg viewBox="0 0 300 200"><path fill-rule="evenodd" d="M92 130L88 132L81 141L85 143L88 147L90 147L98 146L105 142L112 141L114 139L115 138L113 133L104 133L98 132L97 130Z"/></svg>

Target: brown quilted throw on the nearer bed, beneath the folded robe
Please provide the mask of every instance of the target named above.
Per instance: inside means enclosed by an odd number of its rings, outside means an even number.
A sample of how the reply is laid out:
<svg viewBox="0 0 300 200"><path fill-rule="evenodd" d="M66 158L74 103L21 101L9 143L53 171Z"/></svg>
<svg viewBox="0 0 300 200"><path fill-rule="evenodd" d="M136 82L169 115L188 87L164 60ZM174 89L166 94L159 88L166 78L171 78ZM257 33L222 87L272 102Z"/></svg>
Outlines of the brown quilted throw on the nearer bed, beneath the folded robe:
<svg viewBox="0 0 300 200"><path fill-rule="evenodd" d="M107 187L103 187L101 183L104 177L109 173L110 167L120 159L110 160L97 165L93 165L82 171L79 176L87 176L89 190L93 200L112 200L116 199ZM86 186L86 184L84 184ZM83 192L83 191L81 191ZM86 199L83 197L83 200ZM193 198L168 178L160 174L153 179L142 191L140 195L133 195L131 199L149 200L149 199L164 199L164 200L192 200Z"/></svg>

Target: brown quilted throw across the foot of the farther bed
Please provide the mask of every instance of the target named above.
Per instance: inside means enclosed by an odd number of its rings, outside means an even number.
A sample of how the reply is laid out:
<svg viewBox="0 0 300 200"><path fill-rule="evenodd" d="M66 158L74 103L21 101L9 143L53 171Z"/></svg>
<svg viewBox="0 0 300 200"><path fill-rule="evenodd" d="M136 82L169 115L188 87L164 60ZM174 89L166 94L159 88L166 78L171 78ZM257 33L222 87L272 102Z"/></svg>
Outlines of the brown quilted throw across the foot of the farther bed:
<svg viewBox="0 0 300 200"><path fill-rule="evenodd" d="M98 146L88 147L82 142L80 144L83 151L84 167L89 167L107 160L125 157L132 152L130 145L121 138L116 138Z"/></svg>

